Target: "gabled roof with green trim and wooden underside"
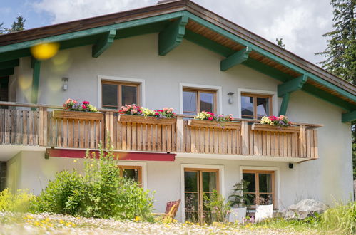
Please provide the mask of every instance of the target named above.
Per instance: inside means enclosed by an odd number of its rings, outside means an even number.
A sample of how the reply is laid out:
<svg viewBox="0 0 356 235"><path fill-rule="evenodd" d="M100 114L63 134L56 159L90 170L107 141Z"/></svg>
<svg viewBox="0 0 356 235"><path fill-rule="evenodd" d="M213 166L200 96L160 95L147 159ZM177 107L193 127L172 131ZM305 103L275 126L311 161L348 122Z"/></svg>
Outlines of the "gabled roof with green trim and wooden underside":
<svg viewBox="0 0 356 235"><path fill-rule="evenodd" d="M174 27L180 30L178 34L174 34ZM225 56L223 71L242 63L283 83L290 81L290 85L305 76L305 82L295 86L297 90L304 90L345 110L356 110L355 85L188 0L1 35L0 76L1 68L4 68L1 63L31 56L29 48L41 42L56 41L61 43L61 49L65 49L102 43L110 32L114 39L120 39L163 31L166 34L173 32L176 36L176 41L166 47L168 51L185 38ZM161 34L164 36L165 33Z"/></svg>

